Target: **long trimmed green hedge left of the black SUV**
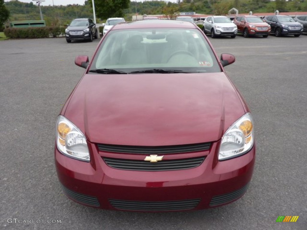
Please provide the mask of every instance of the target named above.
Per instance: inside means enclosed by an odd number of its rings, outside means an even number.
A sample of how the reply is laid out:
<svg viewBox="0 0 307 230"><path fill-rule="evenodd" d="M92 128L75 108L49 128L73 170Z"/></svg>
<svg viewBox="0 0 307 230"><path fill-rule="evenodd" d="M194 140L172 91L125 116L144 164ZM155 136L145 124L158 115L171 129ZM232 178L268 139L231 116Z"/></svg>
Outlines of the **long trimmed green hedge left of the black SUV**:
<svg viewBox="0 0 307 230"><path fill-rule="evenodd" d="M28 28L6 28L4 34L10 38L44 38L56 37L65 33L65 27L46 26Z"/></svg>

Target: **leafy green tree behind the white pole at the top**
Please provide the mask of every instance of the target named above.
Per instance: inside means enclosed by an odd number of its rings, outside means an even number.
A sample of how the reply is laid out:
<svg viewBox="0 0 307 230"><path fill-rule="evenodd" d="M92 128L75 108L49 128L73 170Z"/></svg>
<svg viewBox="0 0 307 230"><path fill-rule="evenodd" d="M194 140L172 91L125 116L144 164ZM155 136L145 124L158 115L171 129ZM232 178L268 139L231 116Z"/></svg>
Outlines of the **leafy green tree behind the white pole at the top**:
<svg viewBox="0 0 307 230"><path fill-rule="evenodd" d="M92 6L91 0L88 0ZM129 8L130 0L95 0L95 12L100 18L124 17L124 9Z"/></svg>

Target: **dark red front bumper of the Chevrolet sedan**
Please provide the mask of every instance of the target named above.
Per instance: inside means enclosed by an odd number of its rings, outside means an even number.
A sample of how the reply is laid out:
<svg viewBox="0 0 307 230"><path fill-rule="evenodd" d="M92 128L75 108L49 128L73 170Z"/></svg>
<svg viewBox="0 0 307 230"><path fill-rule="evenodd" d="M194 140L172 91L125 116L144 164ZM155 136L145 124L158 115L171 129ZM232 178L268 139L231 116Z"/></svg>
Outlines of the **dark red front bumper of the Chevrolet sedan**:
<svg viewBox="0 0 307 230"><path fill-rule="evenodd" d="M243 196L253 173L255 146L245 155L218 161L219 145L212 143L208 151L180 154L206 155L196 168L155 172L111 168L103 160L111 153L99 152L92 143L88 143L89 163L71 159L55 147L56 171L65 194L83 205L129 211L206 209Z"/></svg>

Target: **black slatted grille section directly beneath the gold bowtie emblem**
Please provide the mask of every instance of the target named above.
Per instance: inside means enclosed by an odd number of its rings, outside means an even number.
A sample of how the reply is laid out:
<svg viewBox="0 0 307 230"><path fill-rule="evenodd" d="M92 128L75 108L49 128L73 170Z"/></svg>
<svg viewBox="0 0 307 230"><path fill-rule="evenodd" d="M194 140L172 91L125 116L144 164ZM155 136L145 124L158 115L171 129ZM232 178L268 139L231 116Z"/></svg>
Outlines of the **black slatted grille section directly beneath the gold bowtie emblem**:
<svg viewBox="0 0 307 230"><path fill-rule="evenodd" d="M103 157L105 163L116 169L132 171L173 171L191 169L200 166L205 157L195 157L176 160L162 160L151 163L144 160L129 160L119 158Z"/></svg>

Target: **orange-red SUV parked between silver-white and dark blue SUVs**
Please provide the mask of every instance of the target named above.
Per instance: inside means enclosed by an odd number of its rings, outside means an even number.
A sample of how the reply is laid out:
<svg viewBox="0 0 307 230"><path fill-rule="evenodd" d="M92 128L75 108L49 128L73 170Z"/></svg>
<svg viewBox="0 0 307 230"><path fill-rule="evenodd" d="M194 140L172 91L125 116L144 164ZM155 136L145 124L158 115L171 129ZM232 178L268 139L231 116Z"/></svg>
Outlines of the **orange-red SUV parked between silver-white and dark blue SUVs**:
<svg viewBox="0 0 307 230"><path fill-rule="evenodd" d="M271 26L263 22L260 17L254 15L238 16L233 22L238 27L238 33L243 37L262 35L268 37L271 33Z"/></svg>

